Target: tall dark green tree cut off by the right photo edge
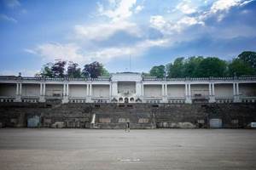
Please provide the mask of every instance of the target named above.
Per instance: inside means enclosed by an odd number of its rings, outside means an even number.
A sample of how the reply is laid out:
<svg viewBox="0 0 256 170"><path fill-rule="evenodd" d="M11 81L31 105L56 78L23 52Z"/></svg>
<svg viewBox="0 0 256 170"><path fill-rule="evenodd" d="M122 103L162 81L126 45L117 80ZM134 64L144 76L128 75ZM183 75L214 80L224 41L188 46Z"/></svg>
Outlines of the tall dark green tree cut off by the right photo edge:
<svg viewBox="0 0 256 170"><path fill-rule="evenodd" d="M256 73L256 52L244 51L238 55L238 59L241 59L244 63L253 68Z"/></svg>

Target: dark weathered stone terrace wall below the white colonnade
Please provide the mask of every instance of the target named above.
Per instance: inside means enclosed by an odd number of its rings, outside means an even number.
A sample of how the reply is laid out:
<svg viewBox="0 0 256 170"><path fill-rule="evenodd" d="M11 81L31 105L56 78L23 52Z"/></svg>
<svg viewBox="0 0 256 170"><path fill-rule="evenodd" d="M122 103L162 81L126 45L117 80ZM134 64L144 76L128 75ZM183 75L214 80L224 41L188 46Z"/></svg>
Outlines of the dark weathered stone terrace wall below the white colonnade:
<svg viewBox="0 0 256 170"><path fill-rule="evenodd" d="M35 117L39 123L33 122ZM27 127L29 122L29 127L125 128L130 122L131 128L207 128L211 120L220 120L221 127L244 128L256 122L256 105L0 104L2 127Z"/></svg>

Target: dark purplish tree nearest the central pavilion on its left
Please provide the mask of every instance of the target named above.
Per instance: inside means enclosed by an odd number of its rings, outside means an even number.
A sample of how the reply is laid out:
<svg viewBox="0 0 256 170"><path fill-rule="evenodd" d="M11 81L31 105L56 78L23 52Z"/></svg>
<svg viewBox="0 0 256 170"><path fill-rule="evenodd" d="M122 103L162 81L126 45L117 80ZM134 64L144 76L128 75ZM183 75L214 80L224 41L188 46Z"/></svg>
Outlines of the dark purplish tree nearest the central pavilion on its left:
<svg viewBox="0 0 256 170"><path fill-rule="evenodd" d="M102 64L94 61L88 65L84 65L83 75L84 77L97 78L102 76Z"/></svg>

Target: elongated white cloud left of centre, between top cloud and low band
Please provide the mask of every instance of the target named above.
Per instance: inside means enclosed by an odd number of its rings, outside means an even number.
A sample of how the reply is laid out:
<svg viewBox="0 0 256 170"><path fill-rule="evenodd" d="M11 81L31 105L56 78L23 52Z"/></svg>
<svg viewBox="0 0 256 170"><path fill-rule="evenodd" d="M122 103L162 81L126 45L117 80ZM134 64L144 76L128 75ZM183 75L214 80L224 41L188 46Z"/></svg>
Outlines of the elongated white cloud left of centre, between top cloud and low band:
<svg viewBox="0 0 256 170"><path fill-rule="evenodd" d="M74 26L76 37L84 40L102 41L113 36L117 31L125 31L132 36L140 37L141 31L136 24L127 21L95 24L90 26Z"/></svg>

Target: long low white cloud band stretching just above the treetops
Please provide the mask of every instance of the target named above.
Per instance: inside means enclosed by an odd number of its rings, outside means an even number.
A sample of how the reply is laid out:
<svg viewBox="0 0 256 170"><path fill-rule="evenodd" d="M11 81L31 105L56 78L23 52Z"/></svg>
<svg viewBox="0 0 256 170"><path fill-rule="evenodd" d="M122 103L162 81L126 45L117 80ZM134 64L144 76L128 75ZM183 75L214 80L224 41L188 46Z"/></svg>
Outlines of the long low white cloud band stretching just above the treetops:
<svg viewBox="0 0 256 170"><path fill-rule="evenodd" d="M140 56L143 55L148 48L165 47L168 43L169 39L145 40L131 46L98 48L94 51L85 48L84 51L82 51L82 48L78 45L71 43L44 43L34 49L26 48L24 51L29 54L37 54L45 61L53 61L55 59L72 60L80 65L84 65L85 63L95 60L107 63L111 59L123 58L129 55Z"/></svg>

